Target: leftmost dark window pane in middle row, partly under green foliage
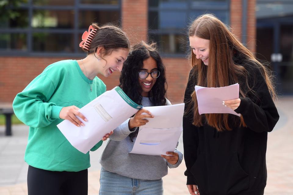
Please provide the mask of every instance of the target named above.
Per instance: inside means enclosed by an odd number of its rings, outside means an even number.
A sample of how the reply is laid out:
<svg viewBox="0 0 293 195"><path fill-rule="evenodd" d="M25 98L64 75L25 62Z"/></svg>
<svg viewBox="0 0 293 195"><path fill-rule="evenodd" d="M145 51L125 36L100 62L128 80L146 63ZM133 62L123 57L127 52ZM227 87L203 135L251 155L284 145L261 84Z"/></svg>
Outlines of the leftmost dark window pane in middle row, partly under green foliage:
<svg viewBox="0 0 293 195"><path fill-rule="evenodd" d="M26 28L28 27L28 10L10 10L13 18L0 17L0 27L5 28Z"/></svg>

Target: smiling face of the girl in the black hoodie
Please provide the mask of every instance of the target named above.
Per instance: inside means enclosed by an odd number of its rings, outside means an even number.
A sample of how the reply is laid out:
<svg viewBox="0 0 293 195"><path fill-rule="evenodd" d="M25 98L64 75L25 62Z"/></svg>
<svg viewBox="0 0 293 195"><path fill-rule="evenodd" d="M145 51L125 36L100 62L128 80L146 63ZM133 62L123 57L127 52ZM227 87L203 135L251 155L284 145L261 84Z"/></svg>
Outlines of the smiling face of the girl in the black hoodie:
<svg viewBox="0 0 293 195"><path fill-rule="evenodd" d="M210 40L197 36L189 37L190 47L197 59L201 59L208 66L208 55L210 52Z"/></svg>

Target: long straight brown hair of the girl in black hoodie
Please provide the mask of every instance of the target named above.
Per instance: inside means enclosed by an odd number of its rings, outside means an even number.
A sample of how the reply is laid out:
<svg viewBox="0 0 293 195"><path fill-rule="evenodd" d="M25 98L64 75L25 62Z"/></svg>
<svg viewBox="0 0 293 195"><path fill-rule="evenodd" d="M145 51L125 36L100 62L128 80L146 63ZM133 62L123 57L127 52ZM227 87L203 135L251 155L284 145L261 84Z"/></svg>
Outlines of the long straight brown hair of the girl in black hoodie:
<svg viewBox="0 0 293 195"><path fill-rule="evenodd" d="M195 54L191 51L191 65L194 71L194 86L199 85L202 87L224 87L235 83L241 83L241 78L244 82L239 92L241 97L250 91L252 86L248 85L249 72L244 68L247 66L255 66L260 69L264 77L268 89L273 97L276 99L276 93L272 82L272 77L269 70L263 66L241 42L237 37L230 32L229 27L222 23L218 18L212 14L204 14L199 16L189 27L189 37L199 37L202 39L210 40L209 61L208 66L204 65L201 59L196 59ZM237 59L241 59L241 63L235 63ZM254 93L255 94L255 93ZM208 125L216 128L218 131L232 130L228 124L228 114L204 114L200 115L198 112L197 98L195 92L191 95L194 101L193 108L187 109L186 112L193 110L195 126L202 126L204 121ZM239 126L246 126L243 117L237 119L234 117L235 124Z"/></svg>

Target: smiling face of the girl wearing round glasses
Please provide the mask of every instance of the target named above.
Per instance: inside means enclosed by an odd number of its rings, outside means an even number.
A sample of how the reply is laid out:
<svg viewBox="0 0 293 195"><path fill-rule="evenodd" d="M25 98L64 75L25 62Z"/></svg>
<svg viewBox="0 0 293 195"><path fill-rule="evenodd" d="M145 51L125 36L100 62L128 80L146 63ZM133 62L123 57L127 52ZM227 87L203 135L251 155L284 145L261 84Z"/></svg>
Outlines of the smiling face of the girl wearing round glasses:
<svg viewBox="0 0 293 195"><path fill-rule="evenodd" d="M139 71L146 71L148 73L152 73L156 70L158 70L157 62L154 60L154 58L149 57L148 59L145 59L143 61L143 68ZM141 96L149 97L149 92L153 88L157 79L154 79L153 77L151 77L151 74L149 74L145 79L138 78L138 81L142 89Z"/></svg>

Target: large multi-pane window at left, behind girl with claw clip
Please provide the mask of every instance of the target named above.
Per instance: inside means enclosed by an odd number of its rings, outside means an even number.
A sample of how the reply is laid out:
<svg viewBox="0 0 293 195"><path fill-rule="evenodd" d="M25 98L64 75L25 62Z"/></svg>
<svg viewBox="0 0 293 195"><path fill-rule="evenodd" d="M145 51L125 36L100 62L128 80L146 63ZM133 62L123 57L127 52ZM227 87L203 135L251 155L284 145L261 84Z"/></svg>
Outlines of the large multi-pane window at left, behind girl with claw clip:
<svg viewBox="0 0 293 195"><path fill-rule="evenodd" d="M83 55L81 35L92 22L121 25L120 0L22 0L0 18L0 55Z"/></svg>

